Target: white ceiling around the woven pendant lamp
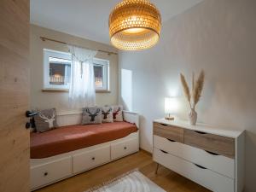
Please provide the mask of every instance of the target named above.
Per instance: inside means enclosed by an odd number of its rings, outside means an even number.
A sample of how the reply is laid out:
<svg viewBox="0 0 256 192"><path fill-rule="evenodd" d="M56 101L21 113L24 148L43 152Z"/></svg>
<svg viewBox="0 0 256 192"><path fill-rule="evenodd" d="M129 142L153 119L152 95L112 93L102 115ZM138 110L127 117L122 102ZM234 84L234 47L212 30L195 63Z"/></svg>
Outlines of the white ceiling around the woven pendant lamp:
<svg viewBox="0 0 256 192"><path fill-rule="evenodd" d="M120 0L31 0L31 23L109 44L108 15ZM163 22L202 0L151 0Z"/></svg>

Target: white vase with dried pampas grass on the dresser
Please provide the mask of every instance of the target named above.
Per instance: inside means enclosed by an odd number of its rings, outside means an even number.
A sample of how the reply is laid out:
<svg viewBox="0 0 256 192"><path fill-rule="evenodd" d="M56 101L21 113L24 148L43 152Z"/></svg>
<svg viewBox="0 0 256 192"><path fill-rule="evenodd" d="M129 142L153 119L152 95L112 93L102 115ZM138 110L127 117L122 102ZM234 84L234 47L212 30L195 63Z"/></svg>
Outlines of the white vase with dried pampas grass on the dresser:
<svg viewBox="0 0 256 192"><path fill-rule="evenodd" d="M192 78L192 95L190 95L189 85L186 82L186 79L182 73L180 73L180 79L183 84L184 94L189 102L190 112L189 112L189 123L190 125L195 125L197 120L197 113L195 112L195 105L199 102L201 97L201 91L203 89L204 81L205 81L205 73L201 71L198 79L195 82L195 75L193 73ZM192 97L192 101L191 101ZM192 103L191 103L192 102Z"/></svg>

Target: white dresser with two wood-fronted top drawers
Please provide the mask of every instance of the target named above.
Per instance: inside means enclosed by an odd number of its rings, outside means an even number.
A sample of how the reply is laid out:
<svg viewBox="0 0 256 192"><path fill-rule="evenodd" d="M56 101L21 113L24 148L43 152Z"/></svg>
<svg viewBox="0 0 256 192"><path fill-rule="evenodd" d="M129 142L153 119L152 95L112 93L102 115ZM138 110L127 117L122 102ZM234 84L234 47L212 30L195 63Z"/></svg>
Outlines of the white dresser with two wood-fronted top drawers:
<svg viewBox="0 0 256 192"><path fill-rule="evenodd" d="M245 131L154 120L153 159L215 192L244 187Z"/></svg>

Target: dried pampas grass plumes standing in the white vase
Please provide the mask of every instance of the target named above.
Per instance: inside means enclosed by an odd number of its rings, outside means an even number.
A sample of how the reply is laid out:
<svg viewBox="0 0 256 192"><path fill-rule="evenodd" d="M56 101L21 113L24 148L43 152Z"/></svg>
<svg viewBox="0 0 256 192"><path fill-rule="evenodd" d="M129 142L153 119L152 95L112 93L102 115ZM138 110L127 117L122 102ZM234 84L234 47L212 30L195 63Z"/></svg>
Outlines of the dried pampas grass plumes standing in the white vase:
<svg viewBox="0 0 256 192"><path fill-rule="evenodd" d="M204 86L204 81L205 81L205 73L202 70L198 79L195 82L195 74L193 73L192 75L192 100L193 100L193 105L191 105L191 96L190 96L190 91L189 91L189 85L187 84L187 81L182 73L180 73L180 79L181 83L183 84L183 91L184 95L186 96L190 108L195 108L195 105L199 102L200 97L201 97L201 92L203 90Z"/></svg>

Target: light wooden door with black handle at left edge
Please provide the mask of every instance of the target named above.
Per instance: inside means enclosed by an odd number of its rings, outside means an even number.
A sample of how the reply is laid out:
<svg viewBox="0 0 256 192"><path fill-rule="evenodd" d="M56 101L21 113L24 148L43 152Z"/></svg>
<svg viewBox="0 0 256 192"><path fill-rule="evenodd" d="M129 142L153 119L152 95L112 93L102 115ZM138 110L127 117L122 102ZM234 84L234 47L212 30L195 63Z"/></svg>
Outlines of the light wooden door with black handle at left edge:
<svg viewBox="0 0 256 192"><path fill-rule="evenodd" d="M0 1L0 191L29 191L29 0Z"/></svg>

